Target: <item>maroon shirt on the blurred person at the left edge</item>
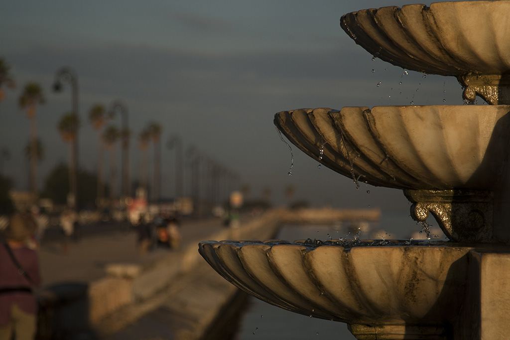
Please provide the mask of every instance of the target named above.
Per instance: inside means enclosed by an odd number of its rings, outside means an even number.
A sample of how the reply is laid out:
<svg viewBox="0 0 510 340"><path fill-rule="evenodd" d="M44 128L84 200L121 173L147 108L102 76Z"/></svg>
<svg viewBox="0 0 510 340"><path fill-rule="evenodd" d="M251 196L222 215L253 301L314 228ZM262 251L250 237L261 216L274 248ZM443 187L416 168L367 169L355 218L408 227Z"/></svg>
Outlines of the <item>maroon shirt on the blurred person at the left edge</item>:
<svg viewBox="0 0 510 340"><path fill-rule="evenodd" d="M0 244L0 290L13 287L38 287L41 283L41 277L37 253L27 247L12 248L12 252L33 282L30 282L26 276L19 273L5 245ZM35 314L37 311L36 298L30 292L19 291L0 294L0 327L9 323L9 313L13 303L16 303L26 313Z"/></svg>

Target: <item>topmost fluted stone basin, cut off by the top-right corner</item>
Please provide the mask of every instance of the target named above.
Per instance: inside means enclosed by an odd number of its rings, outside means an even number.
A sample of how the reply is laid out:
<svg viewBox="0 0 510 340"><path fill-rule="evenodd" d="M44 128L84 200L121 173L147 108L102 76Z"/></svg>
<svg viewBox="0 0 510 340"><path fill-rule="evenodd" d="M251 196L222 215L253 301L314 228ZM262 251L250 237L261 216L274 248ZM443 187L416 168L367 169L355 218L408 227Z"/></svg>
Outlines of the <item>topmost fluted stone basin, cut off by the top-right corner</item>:
<svg viewBox="0 0 510 340"><path fill-rule="evenodd" d="M348 13L341 27L373 56L430 74L510 70L510 1L458 1Z"/></svg>

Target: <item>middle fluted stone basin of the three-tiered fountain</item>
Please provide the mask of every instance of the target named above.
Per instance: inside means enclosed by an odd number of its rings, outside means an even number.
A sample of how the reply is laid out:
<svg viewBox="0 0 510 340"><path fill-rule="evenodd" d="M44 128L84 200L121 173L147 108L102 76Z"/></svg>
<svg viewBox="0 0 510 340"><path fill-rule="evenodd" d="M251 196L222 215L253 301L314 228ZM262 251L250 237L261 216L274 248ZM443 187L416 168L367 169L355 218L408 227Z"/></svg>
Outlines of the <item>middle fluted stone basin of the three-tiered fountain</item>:
<svg viewBox="0 0 510 340"><path fill-rule="evenodd" d="M491 190L510 155L510 106L300 109L274 123L330 169L389 188Z"/></svg>

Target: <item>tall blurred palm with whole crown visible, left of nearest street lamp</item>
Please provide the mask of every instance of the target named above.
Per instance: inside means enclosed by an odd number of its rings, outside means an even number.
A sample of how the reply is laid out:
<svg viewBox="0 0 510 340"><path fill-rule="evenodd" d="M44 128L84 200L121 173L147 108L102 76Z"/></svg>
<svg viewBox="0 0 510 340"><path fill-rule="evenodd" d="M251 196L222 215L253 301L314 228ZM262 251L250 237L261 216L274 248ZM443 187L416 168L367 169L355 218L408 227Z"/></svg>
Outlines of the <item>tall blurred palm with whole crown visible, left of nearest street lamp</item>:
<svg viewBox="0 0 510 340"><path fill-rule="evenodd" d="M44 104L46 99L39 84L30 82L25 85L19 96L18 104L21 110L25 110L30 121L30 191L37 197L37 126L35 114L37 104Z"/></svg>

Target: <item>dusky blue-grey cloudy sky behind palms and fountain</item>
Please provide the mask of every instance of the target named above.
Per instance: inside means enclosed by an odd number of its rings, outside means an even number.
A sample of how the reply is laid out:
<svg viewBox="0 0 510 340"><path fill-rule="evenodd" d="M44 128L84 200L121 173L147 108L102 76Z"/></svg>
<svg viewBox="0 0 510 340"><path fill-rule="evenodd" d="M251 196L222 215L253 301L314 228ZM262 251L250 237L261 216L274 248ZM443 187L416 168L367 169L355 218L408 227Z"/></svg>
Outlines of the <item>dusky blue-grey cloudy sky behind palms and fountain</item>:
<svg viewBox="0 0 510 340"><path fill-rule="evenodd" d="M293 147L273 125L274 114L299 108L462 104L453 77L427 75L372 56L340 28L348 12L402 6L395 0L190 0L87 2L4 0L0 3L0 57L17 83L0 103L0 147L10 151L3 172L28 189L28 118L17 99L28 82L39 83L47 102L37 111L45 148L40 187L48 172L67 162L57 131L71 110L71 91L52 92L63 66L78 75L80 167L95 171L96 133L88 122L95 103L120 100L128 110L131 172L139 174L136 136L151 121L162 141L178 136L198 152L237 173L251 199L270 188L275 205L296 200L314 206L380 206L409 209L400 190L362 185ZM429 5L427 3L426 5ZM399 82L402 82L400 85ZM377 84L379 84L377 86ZM443 99L445 102L443 102ZM117 118L111 123L120 125ZM163 148L162 196L175 193L174 150ZM120 162L120 152L118 155ZM187 188L185 187L185 192Z"/></svg>

